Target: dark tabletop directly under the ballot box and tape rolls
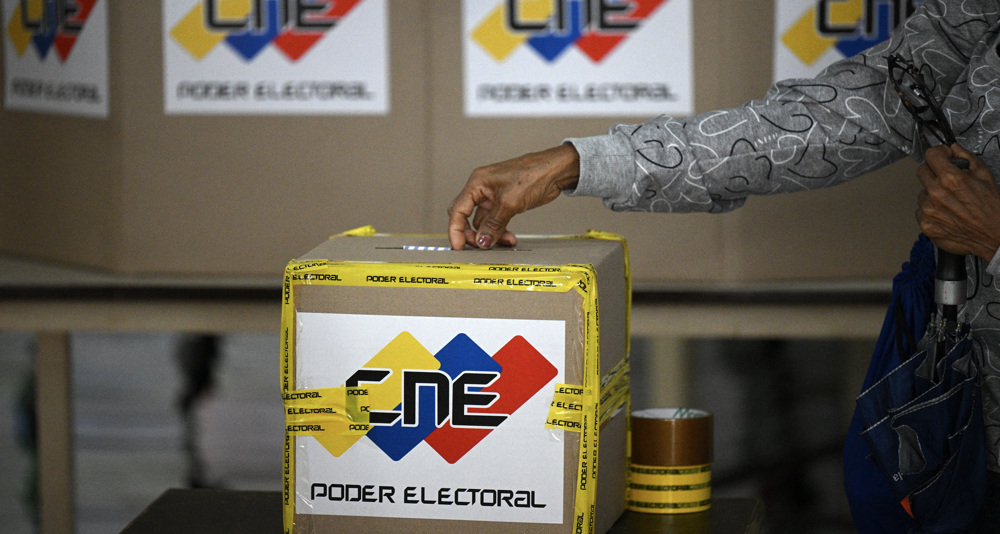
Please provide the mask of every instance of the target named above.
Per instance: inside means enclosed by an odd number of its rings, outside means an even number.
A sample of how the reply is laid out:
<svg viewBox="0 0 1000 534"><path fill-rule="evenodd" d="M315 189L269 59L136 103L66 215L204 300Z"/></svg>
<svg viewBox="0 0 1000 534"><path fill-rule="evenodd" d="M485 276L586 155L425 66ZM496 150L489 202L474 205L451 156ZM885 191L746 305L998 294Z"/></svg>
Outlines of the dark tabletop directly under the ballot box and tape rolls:
<svg viewBox="0 0 1000 534"><path fill-rule="evenodd" d="M609 534L757 534L764 510L753 499L715 499L706 512L652 515L626 511ZM170 489L122 534L282 532L281 492Z"/></svg>

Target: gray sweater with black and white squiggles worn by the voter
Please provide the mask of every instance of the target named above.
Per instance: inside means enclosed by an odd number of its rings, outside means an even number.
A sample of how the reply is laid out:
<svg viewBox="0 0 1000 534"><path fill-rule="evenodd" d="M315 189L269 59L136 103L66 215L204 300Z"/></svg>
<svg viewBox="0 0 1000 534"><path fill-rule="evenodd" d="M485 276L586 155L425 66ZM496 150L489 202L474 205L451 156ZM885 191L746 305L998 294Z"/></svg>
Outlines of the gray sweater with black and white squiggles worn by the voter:
<svg viewBox="0 0 1000 534"><path fill-rule="evenodd" d="M936 84L959 144L1000 177L998 32L1000 0L925 0L891 40L816 78L779 82L763 99L568 139L580 153L568 194L603 198L616 211L720 213L749 195L828 187L904 156L922 160L925 143L887 78L892 53ZM970 256L967 267L970 300L960 313L978 341L988 467L1000 472L1000 254L988 265Z"/></svg>

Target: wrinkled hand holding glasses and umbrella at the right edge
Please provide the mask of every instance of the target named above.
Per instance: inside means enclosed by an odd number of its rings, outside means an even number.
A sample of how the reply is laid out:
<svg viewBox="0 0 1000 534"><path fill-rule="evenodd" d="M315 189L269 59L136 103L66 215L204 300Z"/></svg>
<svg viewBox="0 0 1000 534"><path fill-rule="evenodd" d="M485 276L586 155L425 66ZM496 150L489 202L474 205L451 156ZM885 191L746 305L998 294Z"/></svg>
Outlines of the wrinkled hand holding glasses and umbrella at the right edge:
<svg viewBox="0 0 1000 534"><path fill-rule="evenodd" d="M1000 190L983 162L956 145L927 150L917 169L924 189L917 197L920 229L942 250L975 254L986 261L1000 247ZM951 158L968 160L969 169Z"/></svg>

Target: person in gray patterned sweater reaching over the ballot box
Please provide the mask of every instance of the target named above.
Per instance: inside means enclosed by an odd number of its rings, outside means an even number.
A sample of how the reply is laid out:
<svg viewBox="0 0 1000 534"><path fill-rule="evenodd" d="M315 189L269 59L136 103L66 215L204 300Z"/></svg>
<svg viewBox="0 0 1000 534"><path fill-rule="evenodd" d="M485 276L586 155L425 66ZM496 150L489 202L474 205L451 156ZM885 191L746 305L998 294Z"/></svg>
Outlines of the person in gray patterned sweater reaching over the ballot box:
<svg viewBox="0 0 1000 534"><path fill-rule="evenodd" d="M966 258L961 310L977 335L991 492L1000 478L1000 2L925 0L887 41L813 79L778 82L745 105L679 120L616 125L474 170L448 213L452 248L512 246L516 215L560 195L615 211L721 213L751 195L824 188L904 157L922 162L920 229ZM886 57L911 61L957 136L931 146L889 80ZM952 158L968 160L968 170ZM980 521L1000 529L988 495ZM990 510L986 510L989 508ZM984 517L981 514L981 517Z"/></svg>

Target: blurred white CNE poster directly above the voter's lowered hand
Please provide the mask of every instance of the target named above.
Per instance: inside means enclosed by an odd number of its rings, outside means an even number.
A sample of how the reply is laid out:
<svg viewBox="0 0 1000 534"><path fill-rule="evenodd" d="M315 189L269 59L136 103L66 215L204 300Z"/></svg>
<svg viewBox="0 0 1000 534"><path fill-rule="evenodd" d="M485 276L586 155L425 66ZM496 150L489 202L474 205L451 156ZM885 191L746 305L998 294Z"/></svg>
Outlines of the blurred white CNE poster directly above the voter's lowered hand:
<svg viewBox="0 0 1000 534"><path fill-rule="evenodd" d="M689 115L691 0L464 0L470 117Z"/></svg>

